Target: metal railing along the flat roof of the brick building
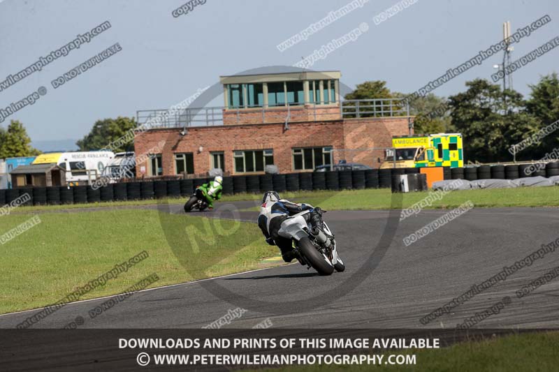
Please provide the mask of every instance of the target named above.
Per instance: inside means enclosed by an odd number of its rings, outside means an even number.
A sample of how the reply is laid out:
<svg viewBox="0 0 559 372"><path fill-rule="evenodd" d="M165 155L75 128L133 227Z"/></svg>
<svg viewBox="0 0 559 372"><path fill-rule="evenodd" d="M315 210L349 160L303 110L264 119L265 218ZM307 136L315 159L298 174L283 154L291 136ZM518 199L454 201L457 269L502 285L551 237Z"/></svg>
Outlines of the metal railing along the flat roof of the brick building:
<svg viewBox="0 0 559 372"><path fill-rule="evenodd" d="M365 117L409 117L409 104L405 98L379 98L346 100L328 105L247 106L238 108L200 107L181 112L171 110L138 110L138 125L150 128L184 128L192 126L221 126L227 124L291 123L298 121L324 121ZM251 120L248 120L248 117Z"/></svg>

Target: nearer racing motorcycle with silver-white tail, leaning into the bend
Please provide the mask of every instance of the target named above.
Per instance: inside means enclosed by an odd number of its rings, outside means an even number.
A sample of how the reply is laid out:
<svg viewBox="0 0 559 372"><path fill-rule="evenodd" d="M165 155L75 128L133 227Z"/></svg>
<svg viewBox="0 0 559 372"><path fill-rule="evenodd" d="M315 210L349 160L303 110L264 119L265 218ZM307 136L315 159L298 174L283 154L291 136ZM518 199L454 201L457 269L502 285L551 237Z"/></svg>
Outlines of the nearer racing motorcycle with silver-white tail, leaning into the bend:
<svg viewBox="0 0 559 372"><path fill-rule="evenodd" d="M331 275L334 270L344 271L345 265L337 255L333 233L324 221L324 230L313 226L311 218L305 218L305 214L310 213L311 211L307 210L294 214L282 223L282 228L277 233L293 241L299 262L307 265L307 269L312 267L321 275Z"/></svg>

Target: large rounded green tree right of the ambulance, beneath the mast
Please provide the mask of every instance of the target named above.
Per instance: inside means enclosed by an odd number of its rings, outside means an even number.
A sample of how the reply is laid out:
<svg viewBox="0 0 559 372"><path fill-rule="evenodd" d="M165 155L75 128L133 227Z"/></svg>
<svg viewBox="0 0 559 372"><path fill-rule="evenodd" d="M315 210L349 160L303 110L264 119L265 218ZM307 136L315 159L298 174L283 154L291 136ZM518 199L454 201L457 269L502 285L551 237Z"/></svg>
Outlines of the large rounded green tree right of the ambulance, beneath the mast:
<svg viewBox="0 0 559 372"><path fill-rule="evenodd" d="M476 79L467 90L449 97L451 123L463 134L465 158L471 161L511 161L508 149L535 133L537 120L525 110L517 91ZM506 107L506 108L505 108Z"/></svg>

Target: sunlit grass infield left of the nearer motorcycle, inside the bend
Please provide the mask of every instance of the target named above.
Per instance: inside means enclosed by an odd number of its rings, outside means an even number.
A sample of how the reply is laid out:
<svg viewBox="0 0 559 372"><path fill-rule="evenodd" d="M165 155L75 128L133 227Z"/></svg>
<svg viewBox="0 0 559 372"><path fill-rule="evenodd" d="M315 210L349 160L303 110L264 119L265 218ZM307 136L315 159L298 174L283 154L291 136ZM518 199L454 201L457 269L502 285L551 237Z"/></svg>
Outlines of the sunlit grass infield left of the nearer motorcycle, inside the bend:
<svg viewBox="0 0 559 372"><path fill-rule="evenodd" d="M1 216L2 234L31 216ZM0 245L0 313L52 304L144 250L149 258L82 299L123 292L152 273L160 278L152 286L160 286L256 269L279 253L263 244L254 223L141 209L39 218L41 223Z"/></svg>

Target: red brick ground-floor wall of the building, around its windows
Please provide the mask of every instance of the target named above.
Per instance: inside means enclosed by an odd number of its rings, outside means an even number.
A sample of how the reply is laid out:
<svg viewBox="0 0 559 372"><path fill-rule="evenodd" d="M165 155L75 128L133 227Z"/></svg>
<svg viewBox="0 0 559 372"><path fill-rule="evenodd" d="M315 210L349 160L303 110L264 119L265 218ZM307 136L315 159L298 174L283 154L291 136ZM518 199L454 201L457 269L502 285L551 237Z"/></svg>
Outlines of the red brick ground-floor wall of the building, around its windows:
<svg viewBox="0 0 559 372"><path fill-rule="evenodd" d="M369 147L390 147L393 135L406 135L407 117L344 119L335 121L307 121L290 123L284 131L284 124L245 124L188 128L187 135L180 135L181 128L154 129L138 133L134 146L136 156L145 154L165 141L161 151L164 175L175 174L174 153L194 154L194 172L203 175L210 170L210 152L224 151L226 172L233 173L233 150L273 149L274 163L279 172L293 172L291 148L333 146L334 149L360 149ZM198 148L203 150L198 153ZM375 166L376 157L383 157L379 151L335 151L334 161L345 158L348 162L366 163ZM140 177L140 167L137 174Z"/></svg>

